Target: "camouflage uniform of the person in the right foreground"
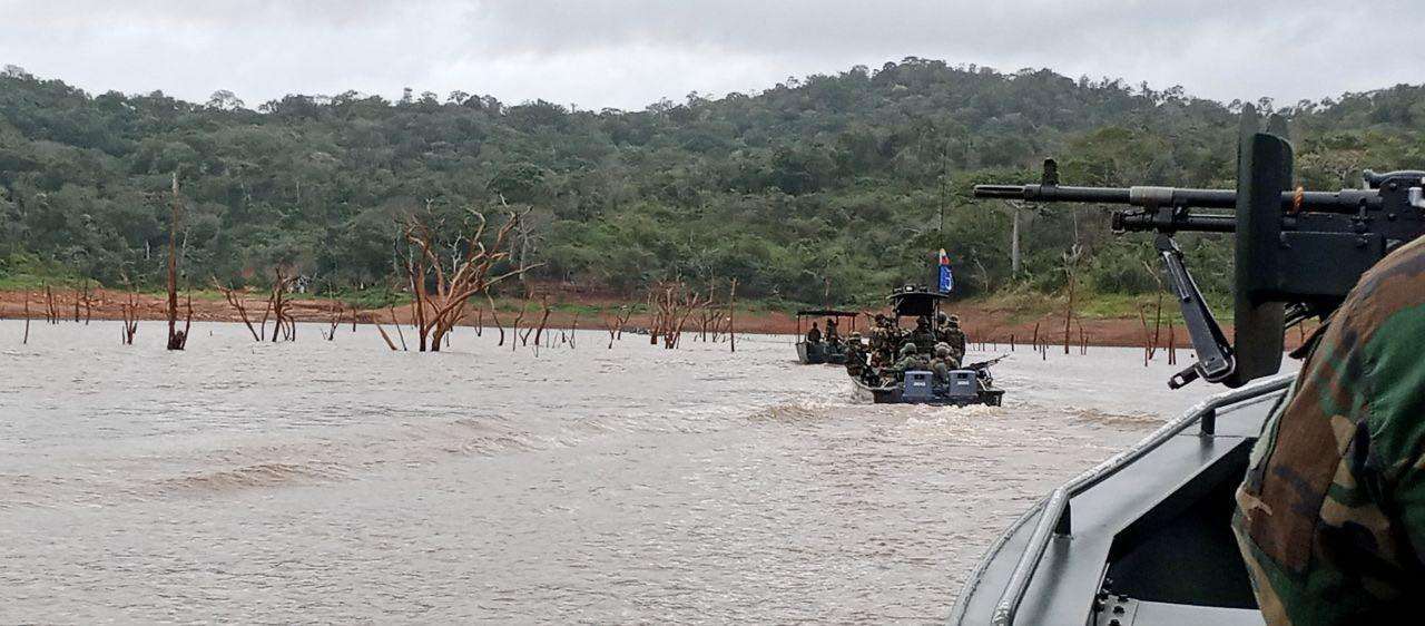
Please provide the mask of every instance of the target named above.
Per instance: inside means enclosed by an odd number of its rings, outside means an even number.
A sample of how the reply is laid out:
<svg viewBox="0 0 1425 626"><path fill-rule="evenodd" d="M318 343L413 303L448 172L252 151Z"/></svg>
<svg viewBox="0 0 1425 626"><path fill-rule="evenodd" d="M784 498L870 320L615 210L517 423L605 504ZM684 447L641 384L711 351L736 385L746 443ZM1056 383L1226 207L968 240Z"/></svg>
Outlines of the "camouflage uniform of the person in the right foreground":
<svg viewBox="0 0 1425 626"><path fill-rule="evenodd" d="M1253 451L1233 529L1268 623L1398 623L1425 600L1422 341L1416 240L1317 332Z"/></svg>

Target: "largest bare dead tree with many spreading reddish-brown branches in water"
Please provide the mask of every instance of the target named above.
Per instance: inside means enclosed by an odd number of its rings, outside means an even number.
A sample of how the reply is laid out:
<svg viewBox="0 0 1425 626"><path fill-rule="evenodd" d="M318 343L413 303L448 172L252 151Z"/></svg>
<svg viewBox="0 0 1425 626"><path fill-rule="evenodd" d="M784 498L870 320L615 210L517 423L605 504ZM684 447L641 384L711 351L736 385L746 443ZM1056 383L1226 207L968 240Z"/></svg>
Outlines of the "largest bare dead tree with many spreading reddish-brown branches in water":
<svg viewBox="0 0 1425 626"><path fill-rule="evenodd" d="M437 244L437 234L419 217L410 217L406 222L406 242L418 252L406 261L406 275L415 292L416 328L419 334L419 349L425 352L440 351L440 339L465 318L466 307L472 297L489 289L512 277L520 277L537 265L524 265L492 275L494 265L509 258L510 232L516 228L523 214L507 212L504 224L496 231L493 241L486 245L484 214L469 210L475 228L467 237L463 254L452 258L449 272L443 265L443 255ZM430 289L433 282L435 289Z"/></svg>

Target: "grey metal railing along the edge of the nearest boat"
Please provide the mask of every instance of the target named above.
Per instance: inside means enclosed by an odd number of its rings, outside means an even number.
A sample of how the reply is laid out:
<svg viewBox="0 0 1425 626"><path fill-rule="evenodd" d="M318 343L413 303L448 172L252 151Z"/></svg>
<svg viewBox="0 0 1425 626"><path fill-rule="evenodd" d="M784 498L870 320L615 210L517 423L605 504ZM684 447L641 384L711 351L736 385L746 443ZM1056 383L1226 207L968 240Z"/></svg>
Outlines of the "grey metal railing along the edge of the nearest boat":
<svg viewBox="0 0 1425 626"><path fill-rule="evenodd" d="M1139 445L1113 455L1096 468L1054 489L1053 493L1050 493L1045 501L1039 523L1035 525L1035 532L1029 536L1029 545L1025 548L1023 555L1019 556L1019 562L1015 563L1015 572L1009 576L1005 593L999 596L999 603L995 605L992 623L995 626L1012 626L1015 623L1015 616L1019 613L1019 605L1025 600L1025 593L1029 590L1029 583L1035 578L1035 570L1039 568L1039 562L1043 559L1045 550L1049 549L1049 542L1054 536L1066 536L1072 530L1069 501L1073 496L1083 493L1094 485L1109 479L1114 473L1119 473L1123 468L1141 459L1149 452L1153 452L1160 445L1166 443L1200 421L1203 421L1204 426L1203 433L1211 435L1216 431L1218 409L1282 391L1291 385L1292 378L1294 374L1281 374L1243 386L1241 389L1233 389L1226 394L1207 398L1187 409L1181 418L1164 424L1163 428L1154 431Z"/></svg>

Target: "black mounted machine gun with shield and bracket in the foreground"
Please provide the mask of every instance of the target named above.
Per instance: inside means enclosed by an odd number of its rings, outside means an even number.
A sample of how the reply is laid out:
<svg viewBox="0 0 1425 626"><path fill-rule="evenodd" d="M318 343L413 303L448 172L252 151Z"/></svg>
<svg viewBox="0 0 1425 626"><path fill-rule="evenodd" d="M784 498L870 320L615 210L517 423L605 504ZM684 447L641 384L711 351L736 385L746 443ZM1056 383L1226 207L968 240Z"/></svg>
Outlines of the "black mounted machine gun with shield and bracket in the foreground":
<svg viewBox="0 0 1425 626"><path fill-rule="evenodd" d="M1257 114L1243 116L1237 188L1064 187L1053 160L1040 184L976 185L976 198L1030 202L1114 204L1119 232L1156 232L1197 362L1168 386L1203 378L1240 386L1281 368L1284 332L1311 317L1325 318L1361 274L1425 234L1425 171L1364 173L1364 188L1305 191L1292 184L1292 148L1277 116L1258 131ZM1228 344L1203 301L1173 235L1231 232L1235 238L1233 321Z"/></svg>

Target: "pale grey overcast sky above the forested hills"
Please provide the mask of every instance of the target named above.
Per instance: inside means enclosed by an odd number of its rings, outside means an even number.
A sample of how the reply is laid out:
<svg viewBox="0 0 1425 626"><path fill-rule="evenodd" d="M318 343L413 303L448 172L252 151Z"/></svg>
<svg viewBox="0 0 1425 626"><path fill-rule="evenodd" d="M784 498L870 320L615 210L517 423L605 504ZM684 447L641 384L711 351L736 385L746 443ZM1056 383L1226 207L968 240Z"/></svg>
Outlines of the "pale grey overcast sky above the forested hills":
<svg viewBox="0 0 1425 626"><path fill-rule="evenodd" d="M403 87L643 108L908 56L1278 103L1425 83L1406 0L0 0L0 64L249 107ZM1391 47L1391 43L1395 43Z"/></svg>

